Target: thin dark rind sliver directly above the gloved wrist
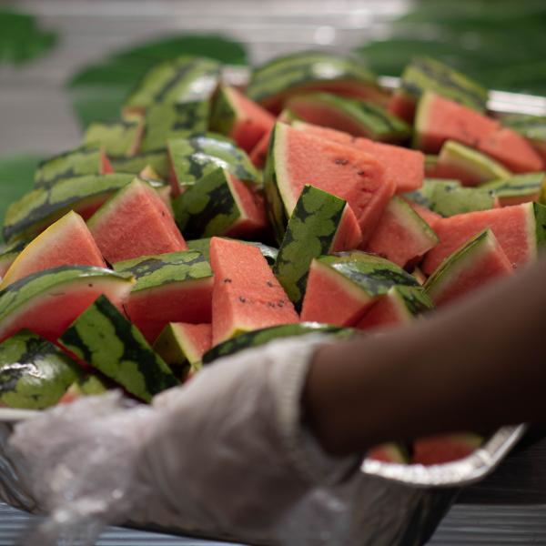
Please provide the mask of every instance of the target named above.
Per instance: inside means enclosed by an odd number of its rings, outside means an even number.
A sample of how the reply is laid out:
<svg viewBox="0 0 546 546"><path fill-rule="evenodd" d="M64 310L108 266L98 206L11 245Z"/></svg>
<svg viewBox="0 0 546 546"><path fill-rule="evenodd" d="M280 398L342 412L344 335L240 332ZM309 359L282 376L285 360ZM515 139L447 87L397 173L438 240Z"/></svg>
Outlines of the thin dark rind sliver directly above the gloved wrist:
<svg viewBox="0 0 546 546"><path fill-rule="evenodd" d="M237 353L239 350L265 345L273 339L305 336L313 332L328 334L336 339L347 339L358 334L354 329L339 328L338 326L331 326L329 324L319 324L319 322L299 322L298 324L271 326L269 328L242 333L238 335L237 338L227 339L227 341L218 344L205 353L203 356L203 364L209 364L216 359L228 357L229 355Z"/></svg>

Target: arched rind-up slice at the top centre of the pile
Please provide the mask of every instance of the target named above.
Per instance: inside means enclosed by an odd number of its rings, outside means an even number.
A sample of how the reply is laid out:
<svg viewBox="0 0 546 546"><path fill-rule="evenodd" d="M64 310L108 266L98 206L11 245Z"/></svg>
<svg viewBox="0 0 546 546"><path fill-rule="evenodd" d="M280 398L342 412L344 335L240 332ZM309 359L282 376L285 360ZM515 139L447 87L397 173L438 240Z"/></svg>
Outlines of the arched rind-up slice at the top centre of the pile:
<svg viewBox="0 0 546 546"><path fill-rule="evenodd" d="M349 56L307 51L277 57L259 66L250 77L247 95L274 113L289 96L305 91L327 91L386 104L388 95L377 76Z"/></svg>

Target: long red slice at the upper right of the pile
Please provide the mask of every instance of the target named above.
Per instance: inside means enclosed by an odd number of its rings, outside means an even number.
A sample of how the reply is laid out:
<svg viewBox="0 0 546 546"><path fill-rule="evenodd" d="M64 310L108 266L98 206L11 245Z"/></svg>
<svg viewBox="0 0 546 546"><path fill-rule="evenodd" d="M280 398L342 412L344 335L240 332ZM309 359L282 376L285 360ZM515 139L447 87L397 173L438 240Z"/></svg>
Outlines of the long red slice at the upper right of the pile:
<svg viewBox="0 0 546 546"><path fill-rule="evenodd" d="M523 136L490 117L427 92L415 117L415 144L425 152L437 153L447 140L475 147L517 173L542 168L541 157Z"/></svg>

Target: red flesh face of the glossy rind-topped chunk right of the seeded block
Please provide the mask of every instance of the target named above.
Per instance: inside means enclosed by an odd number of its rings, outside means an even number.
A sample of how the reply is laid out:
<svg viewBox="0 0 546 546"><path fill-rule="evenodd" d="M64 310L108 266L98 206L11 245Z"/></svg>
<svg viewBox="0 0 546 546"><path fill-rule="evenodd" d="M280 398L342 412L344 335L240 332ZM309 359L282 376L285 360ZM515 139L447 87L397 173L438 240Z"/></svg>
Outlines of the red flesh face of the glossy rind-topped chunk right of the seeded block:
<svg viewBox="0 0 546 546"><path fill-rule="evenodd" d="M343 275L314 259L301 309L301 320L352 326L373 302Z"/></svg>

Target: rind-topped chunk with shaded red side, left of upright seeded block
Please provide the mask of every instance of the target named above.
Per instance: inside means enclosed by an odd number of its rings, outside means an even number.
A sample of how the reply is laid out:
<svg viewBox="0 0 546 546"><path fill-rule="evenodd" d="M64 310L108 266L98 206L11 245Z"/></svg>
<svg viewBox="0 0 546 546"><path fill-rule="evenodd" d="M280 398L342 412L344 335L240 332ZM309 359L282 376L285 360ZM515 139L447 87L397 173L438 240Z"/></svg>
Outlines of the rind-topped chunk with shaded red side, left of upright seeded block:
<svg viewBox="0 0 546 546"><path fill-rule="evenodd" d="M126 312L150 343L169 322L210 322L212 270L200 252L143 256L114 268L136 278Z"/></svg>

